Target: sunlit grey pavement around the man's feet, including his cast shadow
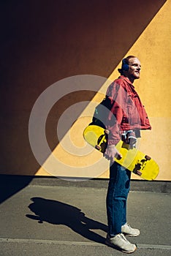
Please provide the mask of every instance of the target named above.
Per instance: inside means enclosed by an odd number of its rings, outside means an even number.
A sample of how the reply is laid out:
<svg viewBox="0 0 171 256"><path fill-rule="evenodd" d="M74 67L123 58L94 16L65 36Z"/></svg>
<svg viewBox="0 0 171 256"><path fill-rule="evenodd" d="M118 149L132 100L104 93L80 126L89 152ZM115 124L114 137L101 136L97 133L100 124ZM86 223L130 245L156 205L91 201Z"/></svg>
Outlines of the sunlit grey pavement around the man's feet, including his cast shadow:
<svg viewBox="0 0 171 256"><path fill-rule="evenodd" d="M0 205L0 256L125 255L104 245L106 187L28 185ZM129 193L133 255L171 255L171 195Z"/></svg>

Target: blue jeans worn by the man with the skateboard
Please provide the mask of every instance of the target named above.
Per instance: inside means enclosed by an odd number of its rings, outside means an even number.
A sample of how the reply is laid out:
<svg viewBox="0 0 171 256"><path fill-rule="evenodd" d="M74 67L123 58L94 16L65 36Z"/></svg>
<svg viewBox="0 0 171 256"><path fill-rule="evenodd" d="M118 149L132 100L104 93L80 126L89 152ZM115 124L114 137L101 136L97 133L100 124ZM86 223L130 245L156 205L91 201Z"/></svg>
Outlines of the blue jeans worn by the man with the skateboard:
<svg viewBox="0 0 171 256"><path fill-rule="evenodd" d="M126 224L126 201L129 194L131 172L114 162L110 166L110 181L107 190L108 233L115 236L121 233Z"/></svg>

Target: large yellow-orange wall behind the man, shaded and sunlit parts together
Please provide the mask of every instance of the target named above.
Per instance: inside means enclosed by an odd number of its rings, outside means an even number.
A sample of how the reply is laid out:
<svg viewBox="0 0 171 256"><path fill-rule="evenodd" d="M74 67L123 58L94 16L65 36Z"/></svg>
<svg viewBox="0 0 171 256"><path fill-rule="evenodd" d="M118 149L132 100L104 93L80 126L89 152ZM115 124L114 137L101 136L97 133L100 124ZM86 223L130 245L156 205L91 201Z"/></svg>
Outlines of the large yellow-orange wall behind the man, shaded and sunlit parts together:
<svg viewBox="0 0 171 256"><path fill-rule="evenodd" d="M51 151L64 165L91 165L73 172L57 165L56 173L44 170L35 159L28 140L28 121L39 95L56 81L75 75L97 75L114 79L124 56L133 54L142 63L135 87L151 118L153 130L143 132L140 148L159 162L159 180L170 180L170 4L171 1L56 1L33 5L1 4L4 22L1 48L1 174L55 176L108 176L101 172L98 152L77 157L61 148L56 137L60 116L77 102L98 102L102 94L77 91L65 95L50 110L46 136ZM41 8L40 8L41 6ZM134 12L132 12L134 10ZM107 84L99 90L104 93ZM93 86L92 86L93 87ZM93 88L92 88L93 89ZM91 108L91 109L88 109ZM88 117L84 113L88 112ZM93 105L80 109L69 130L72 142L86 147L83 128L91 120ZM83 117L81 117L83 116ZM75 130L77 132L75 132ZM63 138L64 143L67 133ZM80 139L81 138L81 139ZM40 150L43 150L42 148ZM66 161L67 159L67 161ZM66 164L65 164L66 161ZM102 159L103 161L103 159ZM47 159L48 162L48 159ZM50 164L51 165L51 164ZM99 165L99 166L98 166ZM46 167L46 165L44 166ZM99 171L96 171L96 170ZM134 176L133 178L137 178Z"/></svg>

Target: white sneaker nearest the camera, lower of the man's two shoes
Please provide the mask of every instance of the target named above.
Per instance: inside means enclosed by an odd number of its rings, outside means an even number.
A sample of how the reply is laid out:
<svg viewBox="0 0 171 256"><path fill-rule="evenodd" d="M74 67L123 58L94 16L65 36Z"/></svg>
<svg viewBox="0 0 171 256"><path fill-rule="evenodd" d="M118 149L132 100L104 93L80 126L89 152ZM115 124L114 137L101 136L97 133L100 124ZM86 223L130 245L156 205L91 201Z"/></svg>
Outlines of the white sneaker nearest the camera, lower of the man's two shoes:
<svg viewBox="0 0 171 256"><path fill-rule="evenodd" d="M123 234L118 234L112 238L107 235L106 244L126 253L132 253L137 249L137 246L135 244L131 244Z"/></svg>

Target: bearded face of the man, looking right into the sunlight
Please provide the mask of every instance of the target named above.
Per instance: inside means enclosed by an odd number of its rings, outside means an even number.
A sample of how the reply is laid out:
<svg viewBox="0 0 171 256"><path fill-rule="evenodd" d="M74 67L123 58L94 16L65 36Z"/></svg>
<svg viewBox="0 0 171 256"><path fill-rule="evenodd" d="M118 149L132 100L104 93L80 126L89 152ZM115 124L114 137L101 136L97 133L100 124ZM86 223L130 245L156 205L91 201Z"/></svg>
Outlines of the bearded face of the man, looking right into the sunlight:
<svg viewBox="0 0 171 256"><path fill-rule="evenodd" d="M137 58L129 59L129 70L127 71L127 77L133 80L139 79L140 69L141 69L141 64L139 59Z"/></svg>

